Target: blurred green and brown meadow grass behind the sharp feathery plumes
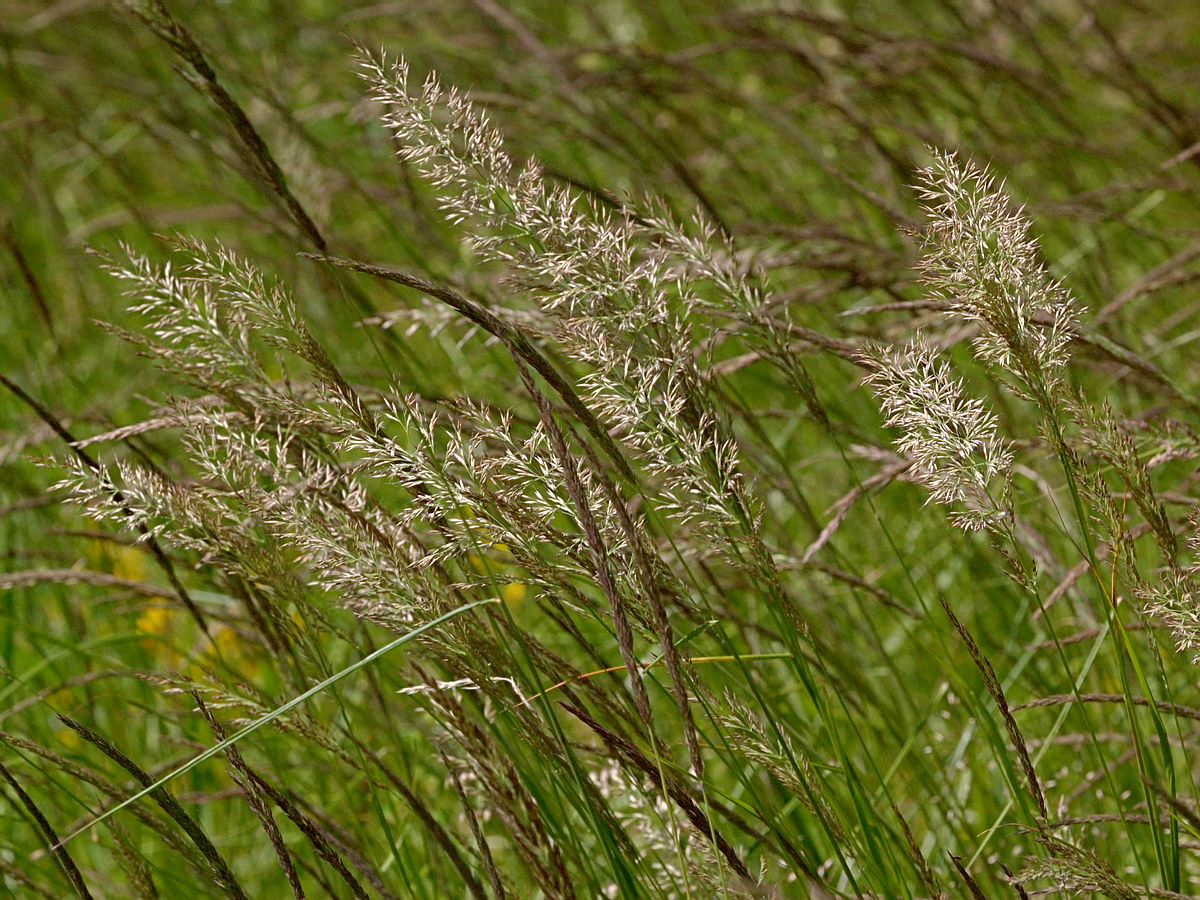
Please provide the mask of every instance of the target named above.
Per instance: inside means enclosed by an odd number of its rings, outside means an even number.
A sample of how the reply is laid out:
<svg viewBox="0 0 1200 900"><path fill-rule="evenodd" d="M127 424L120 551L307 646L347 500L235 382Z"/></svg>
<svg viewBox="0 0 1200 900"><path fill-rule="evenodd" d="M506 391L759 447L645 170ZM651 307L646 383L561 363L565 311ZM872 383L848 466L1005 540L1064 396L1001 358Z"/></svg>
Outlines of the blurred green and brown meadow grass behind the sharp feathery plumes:
<svg viewBox="0 0 1200 900"><path fill-rule="evenodd" d="M792 323L839 341L890 340L914 322L932 320L913 302L924 296L912 271L917 251L906 236L918 222L914 170L926 161L926 145L988 161L1026 204L1055 274L1086 310L1072 378L1120 415L1176 422L1170 439L1181 458L1157 469L1156 479L1171 486L1164 497L1177 520L1195 503L1188 488L1200 112L1189 85L1200 65L1200 19L1188 4L1165 4L1153 14L1127 4L934 1L780 10L536 0L196 2L170 10L331 252L454 282L487 302L499 295L497 272L462 248L434 194L397 163L355 77L354 42L401 52L415 71L436 67L446 83L469 89L516 154L535 155L551 178L601 203L653 193L680 217L702 211L737 246L755 252ZM410 292L300 256L318 250L313 235L248 162L228 110L190 83L194 67L130 10L12 0L0 11L0 371L72 436L152 416L168 396L187 392L95 324L128 325L131 317L119 283L86 250L116 253L124 241L163 258L156 234L218 239L280 276L312 332L356 384L395 379L430 400L466 395L506 404L516 382L511 360L461 323L432 336L409 332L404 318L388 330L359 326L378 314L420 310L421 302ZM864 312L880 305L893 306ZM1128 698L1138 690L1122 683L1115 641L1096 631L1103 624L1093 606L1100 593L1081 581L1043 614L1006 577L988 542L949 528L940 510L922 505L918 487L895 481L874 490L881 457L862 448L882 452L886 443L870 396L857 389L859 373L845 359L798 336L796 353L804 354L827 430L770 371L740 365L743 349L734 336L714 350L727 372L720 389L737 414L768 536L781 568L794 572L792 587L804 598L827 680L806 695L786 661L697 664L706 688L696 697L697 718L709 757L697 793L750 822L736 835L738 846L766 866L764 881L780 896L810 889L928 896L934 887L967 895L952 854L984 895L1012 895L1001 866L1019 869L1024 854L1039 852L1024 830L1036 811L1001 718L938 598L954 607L1013 704L1069 695L1076 678L1082 692ZM1037 428L1027 406L971 367L965 349L953 353L1006 428L1032 438ZM60 437L10 391L0 392L0 425L5 569L76 569L125 580L66 583L59 575L0 594L0 730L13 738L0 762L59 834L132 793L133 782L55 714L83 721L161 775L216 739L196 701L169 690L170 673L206 679L209 706L235 707L246 716L269 712L389 640L355 622L336 598L316 595L311 608L288 611L304 653L281 656L262 638L253 598L223 593L211 560L173 554L179 577L212 623L211 637L204 637L142 545L131 546L46 492L55 474L30 457L67 455ZM95 452L188 476L169 433L150 431ZM1086 527L1069 521L1063 484L1040 470L1025 475L1031 487L1020 494L1019 511L1058 535L1031 544L1045 541L1046 577L1063 578L1081 559L1072 540L1081 542ZM872 490L816 557L822 568L800 566L832 504L863 485ZM169 536L164 544L169 548ZM590 659L535 595L517 598L506 587L520 574L509 571L503 552L488 547L480 558L516 626L578 672L619 662L605 623L580 626L604 650ZM703 577L697 572L697 583ZM686 655L780 650L776 638L792 625L769 599L745 583L728 594L707 583L704 589L697 593L710 604L713 623L683 648ZM1122 602L1127 624L1134 624L1126 612L1132 598ZM1160 643L1138 644L1157 700L1200 706L1188 659L1171 653L1168 637ZM498 661L511 666L504 673L534 671L526 653L514 644L511 659ZM440 755L455 755L443 724L419 697L396 694L418 679L404 659L401 652L362 670L314 698L308 718L254 732L242 745L250 766L287 794L354 872L340 877L306 842L305 829L276 814L311 896L349 896L350 881L370 896L432 899L472 889L388 774L407 785L464 856L482 860L455 766ZM712 726L708 704L726 690L740 702L762 703L772 727L816 762L841 833ZM666 692L652 691L662 721L674 722ZM556 700L539 698L547 718L557 714ZM619 896L736 895L653 869L619 833L636 810L625 810L622 822L616 802L612 817L593 808L586 760L575 770L553 764L516 720L485 715L479 706L481 727L510 750L516 778L535 796L576 895L600 896L610 886ZM1060 828L1058 838L1091 847L1132 883L1195 893L1194 814L1175 810L1182 836L1166 829L1158 841L1139 818L1146 815L1139 806L1144 787L1126 760L1133 748L1162 750L1145 713L1134 712L1138 739L1120 703L1015 715L1051 818L1082 820ZM1189 712L1168 719L1176 782L1160 784L1187 810L1198 799L1193 719ZM577 721L564 716L556 727L581 760L594 751L594 736ZM664 725L656 738L662 752L655 762L682 767L679 733ZM71 766L88 767L102 782L86 784ZM1150 768L1165 782L1165 763ZM170 790L250 896L288 890L226 764L197 767ZM13 896L65 895L70 881L31 814L14 792L0 798L0 884ZM68 845L91 893L152 896L144 887L152 882L164 898L220 895L181 862L194 853L178 829L152 805L138 809L140 820L122 812ZM1171 814L1168 804L1158 809ZM476 824L510 895L535 895L504 823L486 810L480 816ZM775 852L780 839L794 856ZM680 871L691 850L678 851ZM912 862L922 854L934 887ZM797 860L820 863L820 871L805 875ZM482 862L474 878L491 895ZM817 878L822 887L811 887Z"/></svg>

